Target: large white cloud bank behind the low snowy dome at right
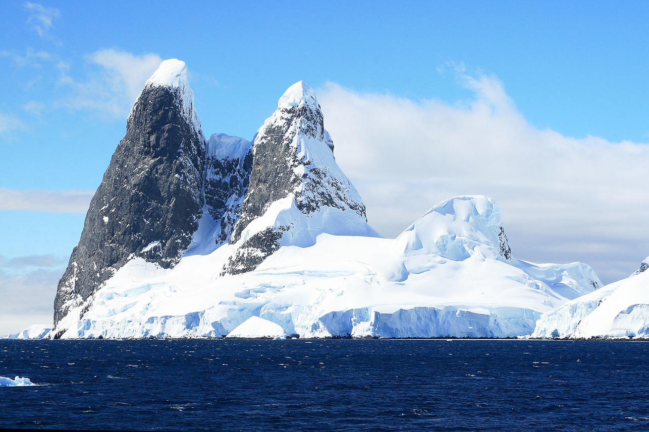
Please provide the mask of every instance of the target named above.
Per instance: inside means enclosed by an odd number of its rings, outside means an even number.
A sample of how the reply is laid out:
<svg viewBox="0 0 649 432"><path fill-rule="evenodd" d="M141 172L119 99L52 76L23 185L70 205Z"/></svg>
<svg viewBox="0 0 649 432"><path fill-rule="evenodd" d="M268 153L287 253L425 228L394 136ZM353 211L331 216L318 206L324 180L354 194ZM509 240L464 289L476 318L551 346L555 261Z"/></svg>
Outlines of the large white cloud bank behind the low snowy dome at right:
<svg viewBox="0 0 649 432"><path fill-rule="evenodd" d="M474 97L455 104L319 91L374 228L394 237L445 198L489 195L518 258L584 261L605 282L628 276L649 254L649 146L538 130L498 78L459 77Z"/></svg>

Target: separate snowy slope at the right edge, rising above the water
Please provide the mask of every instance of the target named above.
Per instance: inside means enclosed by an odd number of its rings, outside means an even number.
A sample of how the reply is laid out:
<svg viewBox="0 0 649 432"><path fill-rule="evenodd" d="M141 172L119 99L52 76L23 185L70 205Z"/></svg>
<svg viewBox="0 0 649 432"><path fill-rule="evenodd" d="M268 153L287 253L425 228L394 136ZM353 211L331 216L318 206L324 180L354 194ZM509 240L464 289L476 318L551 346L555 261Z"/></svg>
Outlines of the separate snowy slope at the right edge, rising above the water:
<svg viewBox="0 0 649 432"><path fill-rule="evenodd" d="M649 338L649 272L645 259L629 278L545 313L533 337Z"/></svg>

